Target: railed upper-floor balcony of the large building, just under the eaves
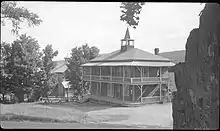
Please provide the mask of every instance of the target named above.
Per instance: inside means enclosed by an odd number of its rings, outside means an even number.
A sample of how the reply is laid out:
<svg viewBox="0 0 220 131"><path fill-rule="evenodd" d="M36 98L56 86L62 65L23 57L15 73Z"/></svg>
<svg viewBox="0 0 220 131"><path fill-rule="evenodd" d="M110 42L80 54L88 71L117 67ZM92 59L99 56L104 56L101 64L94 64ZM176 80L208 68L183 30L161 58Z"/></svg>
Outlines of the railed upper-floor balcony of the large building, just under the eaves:
<svg viewBox="0 0 220 131"><path fill-rule="evenodd" d="M162 78L163 67L84 67L83 80L127 84L158 84Z"/></svg>

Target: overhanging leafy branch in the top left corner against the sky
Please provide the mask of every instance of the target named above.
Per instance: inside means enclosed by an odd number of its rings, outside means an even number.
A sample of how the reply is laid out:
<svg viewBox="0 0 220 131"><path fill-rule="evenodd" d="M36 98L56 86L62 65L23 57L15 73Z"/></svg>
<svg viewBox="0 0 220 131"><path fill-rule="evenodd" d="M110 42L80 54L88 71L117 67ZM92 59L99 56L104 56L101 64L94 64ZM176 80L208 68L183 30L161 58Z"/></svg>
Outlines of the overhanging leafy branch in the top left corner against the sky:
<svg viewBox="0 0 220 131"><path fill-rule="evenodd" d="M24 7L18 7L14 1L1 2L1 25L5 26L5 22L12 23L12 33L19 35L21 29L20 23L27 21L28 26L38 26L42 20L33 12Z"/></svg>

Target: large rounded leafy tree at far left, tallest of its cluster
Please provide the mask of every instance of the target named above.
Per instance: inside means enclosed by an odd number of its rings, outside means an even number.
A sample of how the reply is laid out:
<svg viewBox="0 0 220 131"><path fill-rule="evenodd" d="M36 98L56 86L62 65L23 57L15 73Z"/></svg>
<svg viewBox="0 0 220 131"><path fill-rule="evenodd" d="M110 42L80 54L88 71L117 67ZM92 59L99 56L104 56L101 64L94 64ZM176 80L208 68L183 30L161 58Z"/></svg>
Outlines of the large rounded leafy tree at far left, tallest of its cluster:
<svg viewBox="0 0 220 131"><path fill-rule="evenodd" d="M7 85L5 88L9 87L20 101L23 101L24 93L29 94L32 91L33 77L41 62L39 49L38 42L26 34L21 35L11 45L3 46L4 61L6 62L4 71L7 76L4 79L6 80L4 83Z"/></svg>

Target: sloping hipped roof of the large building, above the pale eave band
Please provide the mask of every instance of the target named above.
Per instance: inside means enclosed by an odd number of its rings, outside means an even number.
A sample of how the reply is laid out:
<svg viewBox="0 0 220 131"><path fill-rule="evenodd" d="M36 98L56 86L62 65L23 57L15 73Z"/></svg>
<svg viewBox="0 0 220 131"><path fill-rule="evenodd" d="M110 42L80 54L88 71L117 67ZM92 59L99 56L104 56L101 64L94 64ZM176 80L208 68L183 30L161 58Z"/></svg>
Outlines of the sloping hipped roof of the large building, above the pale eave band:
<svg viewBox="0 0 220 131"><path fill-rule="evenodd" d="M168 58L164 58L159 55L143 51L138 48L132 48L125 52L120 50L114 51L109 54L101 55L90 62L102 62L102 61L171 61Z"/></svg>

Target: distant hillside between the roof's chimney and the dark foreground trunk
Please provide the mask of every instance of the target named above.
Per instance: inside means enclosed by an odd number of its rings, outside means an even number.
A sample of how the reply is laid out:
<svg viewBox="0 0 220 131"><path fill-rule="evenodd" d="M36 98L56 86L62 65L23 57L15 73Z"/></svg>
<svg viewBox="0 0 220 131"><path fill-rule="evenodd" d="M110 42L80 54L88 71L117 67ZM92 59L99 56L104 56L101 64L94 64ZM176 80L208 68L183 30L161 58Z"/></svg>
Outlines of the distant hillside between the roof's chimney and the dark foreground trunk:
<svg viewBox="0 0 220 131"><path fill-rule="evenodd" d="M163 52L163 53L159 53L159 55L166 57L175 63L185 61L185 50Z"/></svg>

